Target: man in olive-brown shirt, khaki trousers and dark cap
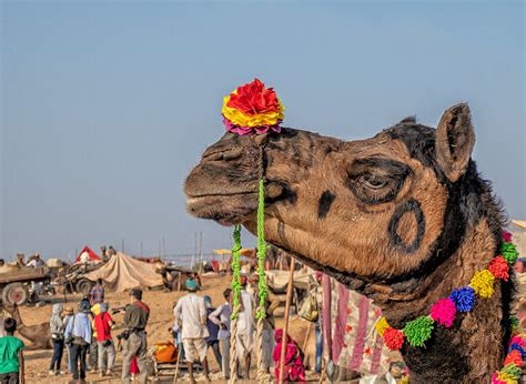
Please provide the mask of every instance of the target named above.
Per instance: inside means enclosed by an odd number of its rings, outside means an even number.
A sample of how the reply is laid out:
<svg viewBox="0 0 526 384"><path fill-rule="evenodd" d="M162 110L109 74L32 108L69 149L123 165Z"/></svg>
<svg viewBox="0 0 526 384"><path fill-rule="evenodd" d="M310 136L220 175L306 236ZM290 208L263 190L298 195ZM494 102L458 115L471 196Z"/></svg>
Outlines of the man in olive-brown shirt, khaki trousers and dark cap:
<svg viewBox="0 0 526 384"><path fill-rule="evenodd" d="M145 383L148 377L146 371L146 324L150 316L150 309L142 302L142 291L139 289L131 290L130 305L124 314L124 327L128 330L129 336L124 341L122 350L122 382L130 383L130 364L133 356L136 355L139 370L138 375L140 383Z"/></svg>

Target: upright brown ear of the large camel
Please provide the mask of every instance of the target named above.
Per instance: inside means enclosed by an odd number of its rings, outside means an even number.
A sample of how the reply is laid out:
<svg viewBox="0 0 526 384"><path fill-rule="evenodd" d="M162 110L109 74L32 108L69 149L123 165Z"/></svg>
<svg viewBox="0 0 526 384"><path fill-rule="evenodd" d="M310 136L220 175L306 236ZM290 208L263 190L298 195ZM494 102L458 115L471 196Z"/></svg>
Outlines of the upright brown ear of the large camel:
<svg viewBox="0 0 526 384"><path fill-rule="evenodd" d="M474 145L475 132L469 107L466 103L451 107L436 128L435 155L452 182L466 171Z"/></svg>

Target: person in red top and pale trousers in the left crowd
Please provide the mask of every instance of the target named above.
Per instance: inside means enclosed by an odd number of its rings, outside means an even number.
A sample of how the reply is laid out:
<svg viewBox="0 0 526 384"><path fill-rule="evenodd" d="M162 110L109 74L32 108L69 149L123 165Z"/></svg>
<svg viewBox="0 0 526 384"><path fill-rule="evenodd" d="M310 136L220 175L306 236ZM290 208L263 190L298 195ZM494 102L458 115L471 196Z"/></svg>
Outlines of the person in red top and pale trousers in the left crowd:
<svg viewBox="0 0 526 384"><path fill-rule="evenodd" d="M94 319L97 330L97 345L99 347L99 375L111 376L111 370L115 363L115 345L111 337L111 329L115 324L110 313L108 304L100 304L100 313Z"/></svg>

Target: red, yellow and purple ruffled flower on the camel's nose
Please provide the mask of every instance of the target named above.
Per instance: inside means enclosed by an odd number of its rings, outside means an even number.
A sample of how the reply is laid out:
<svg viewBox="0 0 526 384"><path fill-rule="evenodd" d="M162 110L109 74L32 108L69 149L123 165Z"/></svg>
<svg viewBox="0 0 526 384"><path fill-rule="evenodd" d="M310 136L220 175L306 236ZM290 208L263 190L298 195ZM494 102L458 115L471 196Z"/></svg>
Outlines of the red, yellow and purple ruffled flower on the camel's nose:
<svg viewBox="0 0 526 384"><path fill-rule="evenodd" d="M223 123L229 132L241 135L279 133L284 110L276 92L254 79L223 99Z"/></svg>

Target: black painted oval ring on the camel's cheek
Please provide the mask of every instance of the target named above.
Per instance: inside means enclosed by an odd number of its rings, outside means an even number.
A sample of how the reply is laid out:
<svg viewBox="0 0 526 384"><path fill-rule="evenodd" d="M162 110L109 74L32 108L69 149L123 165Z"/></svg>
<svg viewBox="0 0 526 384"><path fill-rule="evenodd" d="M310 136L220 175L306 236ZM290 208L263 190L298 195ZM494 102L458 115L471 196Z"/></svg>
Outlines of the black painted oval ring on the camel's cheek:
<svg viewBox="0 0 526 384"><path fill-rule="evenodd" d="M404 236L406 239L403 239L401 236L401 229L399 225L403 222L403 219L407 214L413 214L414 215L414 225L416 225L416 234L414 236L414 240L408 243L407 236ZM404 222L406 222L404 220ZM425 233L425 218L424 218L424 212L422 212L421 204L414 200L411 199L406 202L404 202L402 205L399 205L393 216L390 220L390 224L387 225L387 232L390 236L390 243L393 246L396 246L401 251L405 253L412 253L415 252L416 250L419 249L422 239L424 238Z"/></svg>

